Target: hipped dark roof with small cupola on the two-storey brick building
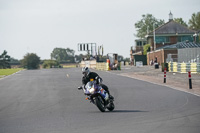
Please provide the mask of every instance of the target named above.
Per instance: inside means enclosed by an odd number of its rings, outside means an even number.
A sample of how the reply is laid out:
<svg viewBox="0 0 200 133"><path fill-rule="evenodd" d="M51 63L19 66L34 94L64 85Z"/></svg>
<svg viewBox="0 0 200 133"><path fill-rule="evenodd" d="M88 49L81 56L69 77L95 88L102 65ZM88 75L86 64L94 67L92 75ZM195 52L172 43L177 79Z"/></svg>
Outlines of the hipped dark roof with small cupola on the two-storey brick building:
<svg viewBox="0 0 200 133"><path fill-rule="evenodd" d="M194 33L195 33L194 30L191 30L173 20L155 29L155 34L194 34ZM149 35L153 35L153 32L150 32Z"/></svg>

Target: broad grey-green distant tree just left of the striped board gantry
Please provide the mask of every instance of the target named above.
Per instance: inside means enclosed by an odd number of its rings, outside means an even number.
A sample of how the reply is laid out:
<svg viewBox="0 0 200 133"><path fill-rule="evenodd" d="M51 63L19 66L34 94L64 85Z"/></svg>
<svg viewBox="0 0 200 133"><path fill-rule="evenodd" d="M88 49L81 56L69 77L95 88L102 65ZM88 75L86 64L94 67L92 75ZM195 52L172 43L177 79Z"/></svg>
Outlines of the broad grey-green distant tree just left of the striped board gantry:
<svg viewBox="0 0 200 133"><path fill-rule="evenodd" d="M75 51L67 48L54 48L51 53L51 59L55 59L58 62L74 62Z"/></svg>

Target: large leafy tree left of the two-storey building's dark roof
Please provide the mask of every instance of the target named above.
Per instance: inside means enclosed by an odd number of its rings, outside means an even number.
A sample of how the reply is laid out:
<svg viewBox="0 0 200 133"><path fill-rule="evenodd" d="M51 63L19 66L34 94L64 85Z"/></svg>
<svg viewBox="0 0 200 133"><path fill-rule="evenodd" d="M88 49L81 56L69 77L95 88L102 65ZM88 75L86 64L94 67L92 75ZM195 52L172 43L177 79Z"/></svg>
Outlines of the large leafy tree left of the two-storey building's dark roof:
<svg viewBox="0 0 200 133"><path fill-rule="evenodd" d="M164 20L156 19L152 14L142 15L142 19L135 23L135 28L137 30L136 36L145 38L147 31L153 31L153 24L155 24L155 28L157 28L164 23Z"/></svg>

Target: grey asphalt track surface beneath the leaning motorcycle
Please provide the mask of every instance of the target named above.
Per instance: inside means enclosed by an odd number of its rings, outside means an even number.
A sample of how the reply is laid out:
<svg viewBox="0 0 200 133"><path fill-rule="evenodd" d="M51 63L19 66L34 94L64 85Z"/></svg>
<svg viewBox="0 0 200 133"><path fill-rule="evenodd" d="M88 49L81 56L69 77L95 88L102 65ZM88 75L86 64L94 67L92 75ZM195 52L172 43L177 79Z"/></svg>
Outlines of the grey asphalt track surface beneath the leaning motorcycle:
<svg viewBox="0 0 200 133"><path fill-rule="evenodd" d="M0 133L200 133L200 97L97 71L113 112L85 100L81 69L26 70L0 80Z"/></svg>

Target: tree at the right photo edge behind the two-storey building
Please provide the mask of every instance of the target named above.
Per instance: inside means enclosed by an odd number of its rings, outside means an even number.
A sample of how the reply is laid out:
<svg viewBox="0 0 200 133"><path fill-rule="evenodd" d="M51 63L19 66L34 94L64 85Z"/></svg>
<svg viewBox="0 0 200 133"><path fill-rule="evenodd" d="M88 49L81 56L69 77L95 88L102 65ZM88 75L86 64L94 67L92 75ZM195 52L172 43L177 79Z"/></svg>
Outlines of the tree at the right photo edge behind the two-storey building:
<svg viewBox="0 0 200 133"><path fill-rule="evenodd" d="M193 13L188 24L191 29L199 30L200 29L200 12L197 12L196 14Z"/></svg>

